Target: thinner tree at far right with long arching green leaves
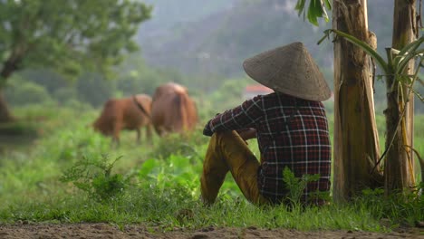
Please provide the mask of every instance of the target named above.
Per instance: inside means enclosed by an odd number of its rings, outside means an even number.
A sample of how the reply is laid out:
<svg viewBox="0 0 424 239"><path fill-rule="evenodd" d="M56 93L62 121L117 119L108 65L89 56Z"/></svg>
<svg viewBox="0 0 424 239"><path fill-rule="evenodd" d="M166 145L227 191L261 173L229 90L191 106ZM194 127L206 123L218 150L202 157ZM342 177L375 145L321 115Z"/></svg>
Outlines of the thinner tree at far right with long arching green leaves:
<svg viewBox="0 0 424 239"><path fill-rule="evenodd" d="M413 154L418 151L413 144L413 100L414 93L423 101L414 89L419 76L424 49L424 37L418 37L418 21L415 12L415 1L395 1L393 24L393 47L386 48L387 62L375 52L368 43L358 38L332 29L330 32L342 36L366 51L381 66L387 85L386 115L386 145L381 156L384 161L384 186L387 195L415 187ZM395 48L396 47L396 48ZM415 60L418 59L417 67ZM415 69L416 68L416 69ZM424 160L419 158L421 172L424 170ZM379 159L378 163L381 162ZM376 165L377 167L377 165ZM373 170L371 173L374 172Z"/></svg>

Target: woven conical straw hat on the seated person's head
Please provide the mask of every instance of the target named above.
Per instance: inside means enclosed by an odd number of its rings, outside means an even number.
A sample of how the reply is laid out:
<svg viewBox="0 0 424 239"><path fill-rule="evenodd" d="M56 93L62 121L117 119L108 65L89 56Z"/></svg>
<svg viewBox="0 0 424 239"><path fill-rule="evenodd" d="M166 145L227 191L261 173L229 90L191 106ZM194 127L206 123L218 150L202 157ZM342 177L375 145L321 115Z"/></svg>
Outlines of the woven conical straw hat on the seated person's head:
<svg viewBox="0 0 424 239"><path fill-rule="evenodd" d="M304 100L323 101L331 91L303 43L291 43L243 62L246 73L255 81L284 94Z"/></svg>

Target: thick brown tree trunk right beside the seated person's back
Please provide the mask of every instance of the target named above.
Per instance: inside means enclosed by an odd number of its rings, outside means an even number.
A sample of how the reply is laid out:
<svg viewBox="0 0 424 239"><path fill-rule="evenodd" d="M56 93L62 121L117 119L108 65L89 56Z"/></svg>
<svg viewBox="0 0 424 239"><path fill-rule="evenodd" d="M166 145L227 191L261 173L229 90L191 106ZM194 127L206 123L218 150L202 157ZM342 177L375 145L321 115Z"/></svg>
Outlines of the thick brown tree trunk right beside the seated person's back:
<svg viewBox="0 0 424 239"><path fill-rule="evenodd" d="M333 1L333 28L375 43L368 31L367 0ZM374 46L376 47L376 45ZM371 58L342 37L334 42L333 196L341 202L382 186L378 168Z"/></svg>

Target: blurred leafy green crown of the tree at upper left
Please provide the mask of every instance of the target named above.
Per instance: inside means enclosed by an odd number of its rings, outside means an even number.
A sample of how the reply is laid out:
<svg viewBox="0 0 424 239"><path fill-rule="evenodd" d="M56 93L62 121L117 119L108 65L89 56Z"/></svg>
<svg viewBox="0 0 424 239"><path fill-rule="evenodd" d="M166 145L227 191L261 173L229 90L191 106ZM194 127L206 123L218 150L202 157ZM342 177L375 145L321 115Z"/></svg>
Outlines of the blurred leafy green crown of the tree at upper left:
<svg viewBox="0 0 424 239"><path fill-rule="evenodd" d="M0 1L0 122L13 119L3 90L14 72L111 74L125 53L138 50L131 37L150 12L130 0Z"/></svg>

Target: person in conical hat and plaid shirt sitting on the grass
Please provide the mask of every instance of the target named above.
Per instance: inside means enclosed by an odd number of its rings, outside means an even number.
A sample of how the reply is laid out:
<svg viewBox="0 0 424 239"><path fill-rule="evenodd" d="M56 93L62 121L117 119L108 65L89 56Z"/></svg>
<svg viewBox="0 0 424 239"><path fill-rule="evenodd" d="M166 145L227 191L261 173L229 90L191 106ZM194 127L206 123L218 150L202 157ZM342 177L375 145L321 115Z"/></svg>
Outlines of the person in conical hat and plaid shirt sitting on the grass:
<svg viewBox="0 0 424 239"><path fill-rule="evenodd" d="M331 96L323 73L302 43L275 48L247 59L243 66L255 81L275 92L246 100L210 119L210 136L200 178L202 199L215 202L227 172L254 204L287 202L284 168L294 177L319 174L309 182L300 202L323 205L330 190L331 143L322 100ZM258 159L246 146L256 138Z"/></svg>

